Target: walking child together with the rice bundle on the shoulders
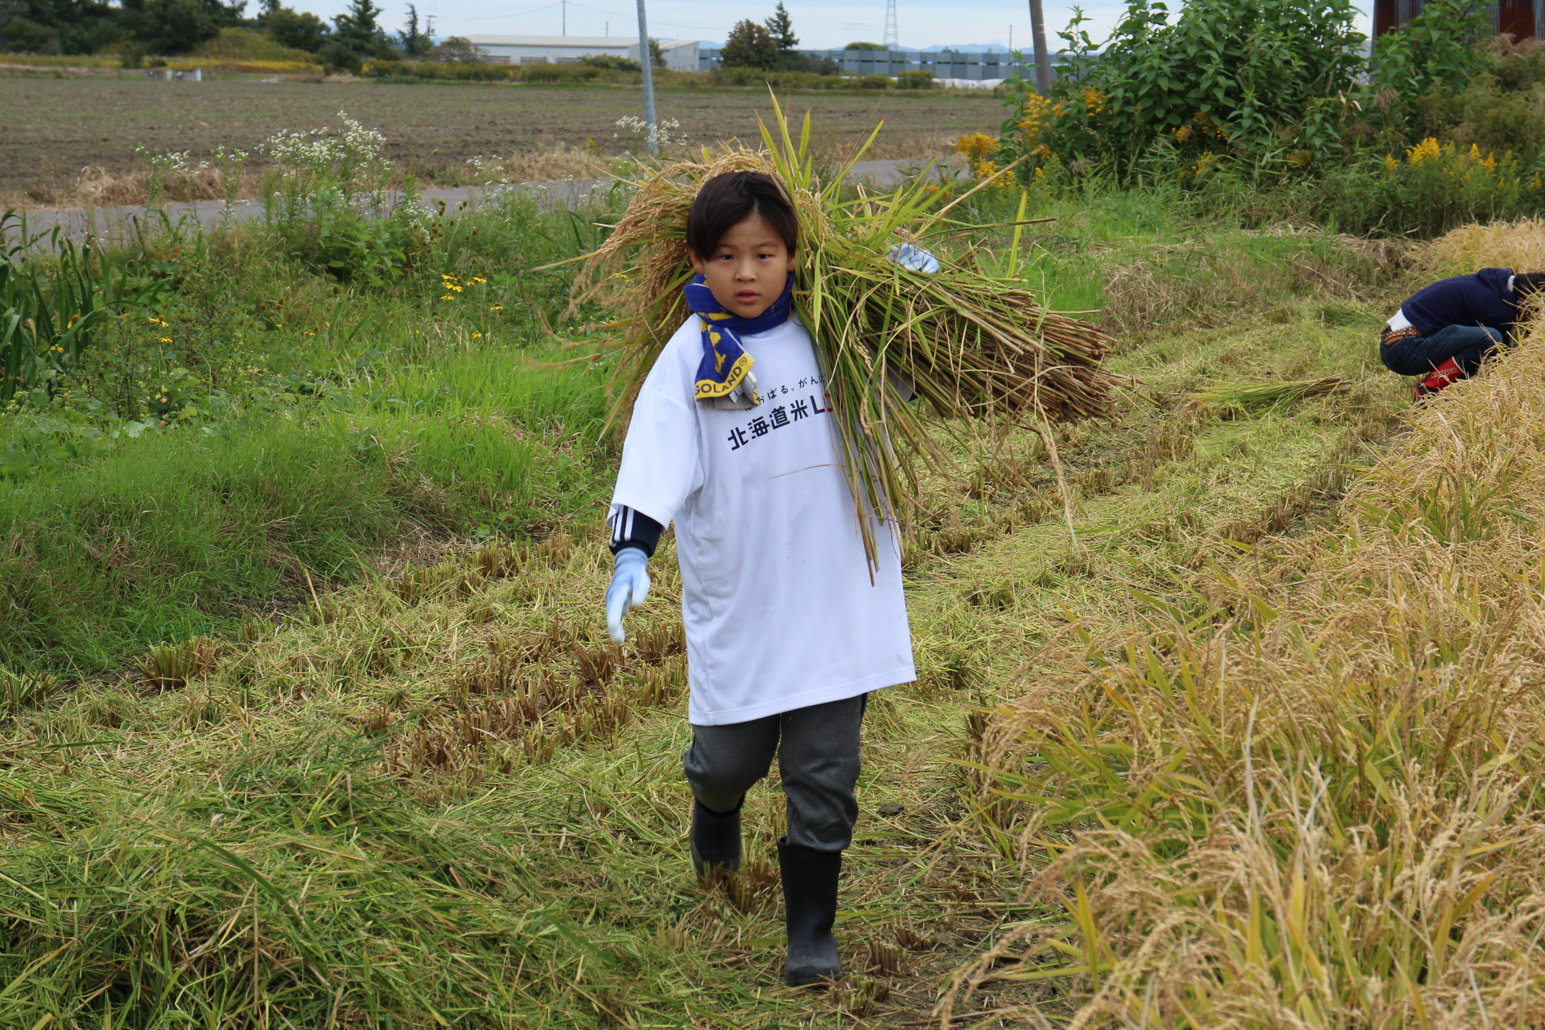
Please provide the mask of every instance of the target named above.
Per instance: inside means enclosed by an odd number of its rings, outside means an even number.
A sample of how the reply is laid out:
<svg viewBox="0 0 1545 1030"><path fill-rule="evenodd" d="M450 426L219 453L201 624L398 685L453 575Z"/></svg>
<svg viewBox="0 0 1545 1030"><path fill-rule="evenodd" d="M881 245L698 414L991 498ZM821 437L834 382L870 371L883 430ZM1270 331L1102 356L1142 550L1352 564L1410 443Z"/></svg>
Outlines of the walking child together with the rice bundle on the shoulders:
<svg viewBox="0 0 1545 1030"><path fill-rule="evenodd" d="M973 417L1106 414L1111 400L1092 326L885 246L915 221L901 193L836 229L834 190L810 190L808 165L791 171L739 153L688 167L689 185L660 176L599 255L646 244L627 273L632 414L606 615L623 642L674 520L692 863L739 869L740 809L776 757L783 976L811 985L840 976L833 923L868 692L916 678L898 513L912 503L907 454L933 445L908 397Z"/></svg>

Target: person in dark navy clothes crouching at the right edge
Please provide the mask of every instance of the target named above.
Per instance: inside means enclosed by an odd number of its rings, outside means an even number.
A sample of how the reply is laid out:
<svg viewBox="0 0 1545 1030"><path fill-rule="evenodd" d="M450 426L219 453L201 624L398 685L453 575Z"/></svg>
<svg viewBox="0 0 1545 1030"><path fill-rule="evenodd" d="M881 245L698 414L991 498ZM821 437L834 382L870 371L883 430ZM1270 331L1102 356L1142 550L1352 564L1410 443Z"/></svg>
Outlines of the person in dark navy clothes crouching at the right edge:
<svg viewBox="0 0 1545 1030"><path fill-rule="evenodd" d="M1511 346L1519 304L1545 286L1545 273L1482 269L1417 290L1380 337L1378 357L1395 375L1420 375L1421 401L1474 375L1497 347Z"/></svg>

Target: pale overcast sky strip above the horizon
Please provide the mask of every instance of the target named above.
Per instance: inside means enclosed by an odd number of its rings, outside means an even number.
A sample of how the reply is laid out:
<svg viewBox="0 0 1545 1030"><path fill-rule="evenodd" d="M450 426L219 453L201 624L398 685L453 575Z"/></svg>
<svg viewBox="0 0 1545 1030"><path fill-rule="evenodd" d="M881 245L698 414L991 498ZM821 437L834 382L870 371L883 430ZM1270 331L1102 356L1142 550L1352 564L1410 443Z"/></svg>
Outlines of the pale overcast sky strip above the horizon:
<svg viewBox="0 0 1545 1030"><path fill-rule="evenodd" d="M375 0L385 8L382 25L392 31L402 26L405 0ZM701 39L720 43L740 19L762 22L777 0L647 0L649 34L660 39ZM853 40L881 42L885 31L885 0L785 0L800 46L825 49ZM348 0L290 0L301 11L323 17L340 14ZM256 2L250 3L256 8ZM1174 3L1179 6L1179 3ZM504 32L519 36L558 36L567 11L569 36L637 36L638 14L627 0L530 0L530 3L499 3L496 0L419 0L419 14L434 15L436 36L473 36ZM1125 3L1095 0L1085 6L1091 19L1086 26L1095 42L1105 39L1125 11ZM1057 49L1057 31L1068 25L1072 5L1046 0L1046 34ZM1369 31L1369 19L1360 19ZM896 0L896 25L904 48L1010 45L1027 49L1031 12L1026 0Z"/></svg>

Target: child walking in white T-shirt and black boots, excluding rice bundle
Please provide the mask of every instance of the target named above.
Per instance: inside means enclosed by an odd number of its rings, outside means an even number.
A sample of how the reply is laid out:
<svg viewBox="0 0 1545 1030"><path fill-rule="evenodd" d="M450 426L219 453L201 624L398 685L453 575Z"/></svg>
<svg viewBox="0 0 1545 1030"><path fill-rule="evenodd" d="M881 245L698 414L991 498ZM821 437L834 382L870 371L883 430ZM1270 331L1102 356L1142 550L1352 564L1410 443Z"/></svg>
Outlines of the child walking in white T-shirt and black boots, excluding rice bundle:
<svg viewBox="0 0 1545 1030"><path fill-rule="evenodd" d="M791 318L797 236L794 207L766 174L722 174L698 191L686 227L698 273L684 287L692 315L633 405L609 516L616 571L606 595L621 642L674 519L692 863L700 876L739 869L740 809L776 757L788 798L777 852L791 985L840 976L833 923L857 818L865 700L916 678L896 539L891 527L874 527L871 579L823 372Z"/></svg>

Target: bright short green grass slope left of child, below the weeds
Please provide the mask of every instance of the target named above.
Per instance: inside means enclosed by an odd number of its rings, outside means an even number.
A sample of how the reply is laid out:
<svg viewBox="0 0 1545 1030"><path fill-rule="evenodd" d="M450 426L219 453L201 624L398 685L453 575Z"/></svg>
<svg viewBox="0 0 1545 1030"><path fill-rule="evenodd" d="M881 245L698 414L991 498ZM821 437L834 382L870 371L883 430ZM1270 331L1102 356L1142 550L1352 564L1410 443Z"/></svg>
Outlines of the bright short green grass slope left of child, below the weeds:
<svg viewBox="0 0 1545 1030"><path fill-rule="evenodd" d="M522 383L539 375L508 355L482 368L516 389L147 435L0 491L8 664L100 673L161 641L233 636L244 615L298 602L304 574L355 579L416 536L544 534L593 511L610 451L593 434L565 449L508 414L552 401L564 377ZM598 388L579 386L582 412Z"/></svg>

